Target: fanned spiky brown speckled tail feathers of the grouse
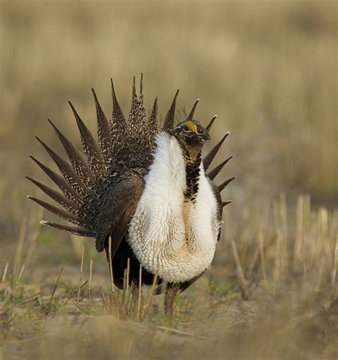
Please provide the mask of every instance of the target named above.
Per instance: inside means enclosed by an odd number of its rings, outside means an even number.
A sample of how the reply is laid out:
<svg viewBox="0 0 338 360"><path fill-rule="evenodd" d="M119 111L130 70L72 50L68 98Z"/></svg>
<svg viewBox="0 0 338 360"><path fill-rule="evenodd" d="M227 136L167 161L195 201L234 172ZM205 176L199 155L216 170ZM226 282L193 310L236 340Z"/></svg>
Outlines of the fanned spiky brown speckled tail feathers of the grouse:
<svg viewBox="0 0 338 360"><path fill-rule="evenodd" d="M48 168L48 166L41 164L40 161L30 156L31 159L51 178L51 180L62 191L62 194L55 191L48 186L41 184L39 181L28 178L36 186L39 187L45 194L64 209L36 199L33 196L28 196L29 199L35 201L43 206L48 211L73 223L74 225L57 224L49 221L41 221L41 224L53 227L63 231L68 231L71 234L80 236L97 237L97 219L100 213L101 206L106 201L111 189L117 184L126 169L139 169L141 175L148 171L148 166L151 161L151 151L155 147L154 138L158 133L158 99L156 98L153 104L153 109L149 118L145 116L145 109L143 107L143 76L140 81L140 96L138 98L135 90L135 78L133 81L132 104L128 122L118 104L116 92L111 81L111 91L113 99L113 111L111 119L108 120L106 114L103 112L101 104L98 101L96 92L93 91L94 103L96 106L97 117L97 136L98 141L94 139L91 131L84 124L81 117L78 115L73 104L69 102L73 114L76 119L76 124L81 135L81 144L83 151L80 151L64 136L61 131L50 121L58 139L61 141L63 148L68 156L68 161L58 156L50 147L43 141L39 140L43 148L48 152L51 159L58 166L62 176L56 174L55 171ZM175 122L175 107L178 98L176 91L173 103L165 116L163 130L169 131L173 129ZM188 114L187 120L193 119L198 100L193 104L193 108ZM206 129L209 131L214 123L216 116L213 116ZM208 170L212 160L215 158L217 152L220 150L223 142L229 133L225 134L222 139L210 150L210 152L203 159L205 171ZM130 149L131 146L131 149ZM133 152L133 154L130 154ZM137 154L137 156L135 156ZM222 161L221 164L208 172L210 180L214 180L215 176L220 173L223 166L232 158ZM218 191L227 186L235 178L228 179L218 186ZM223 201L221 206L224 207L230 204L231 201Z"/></svg>

